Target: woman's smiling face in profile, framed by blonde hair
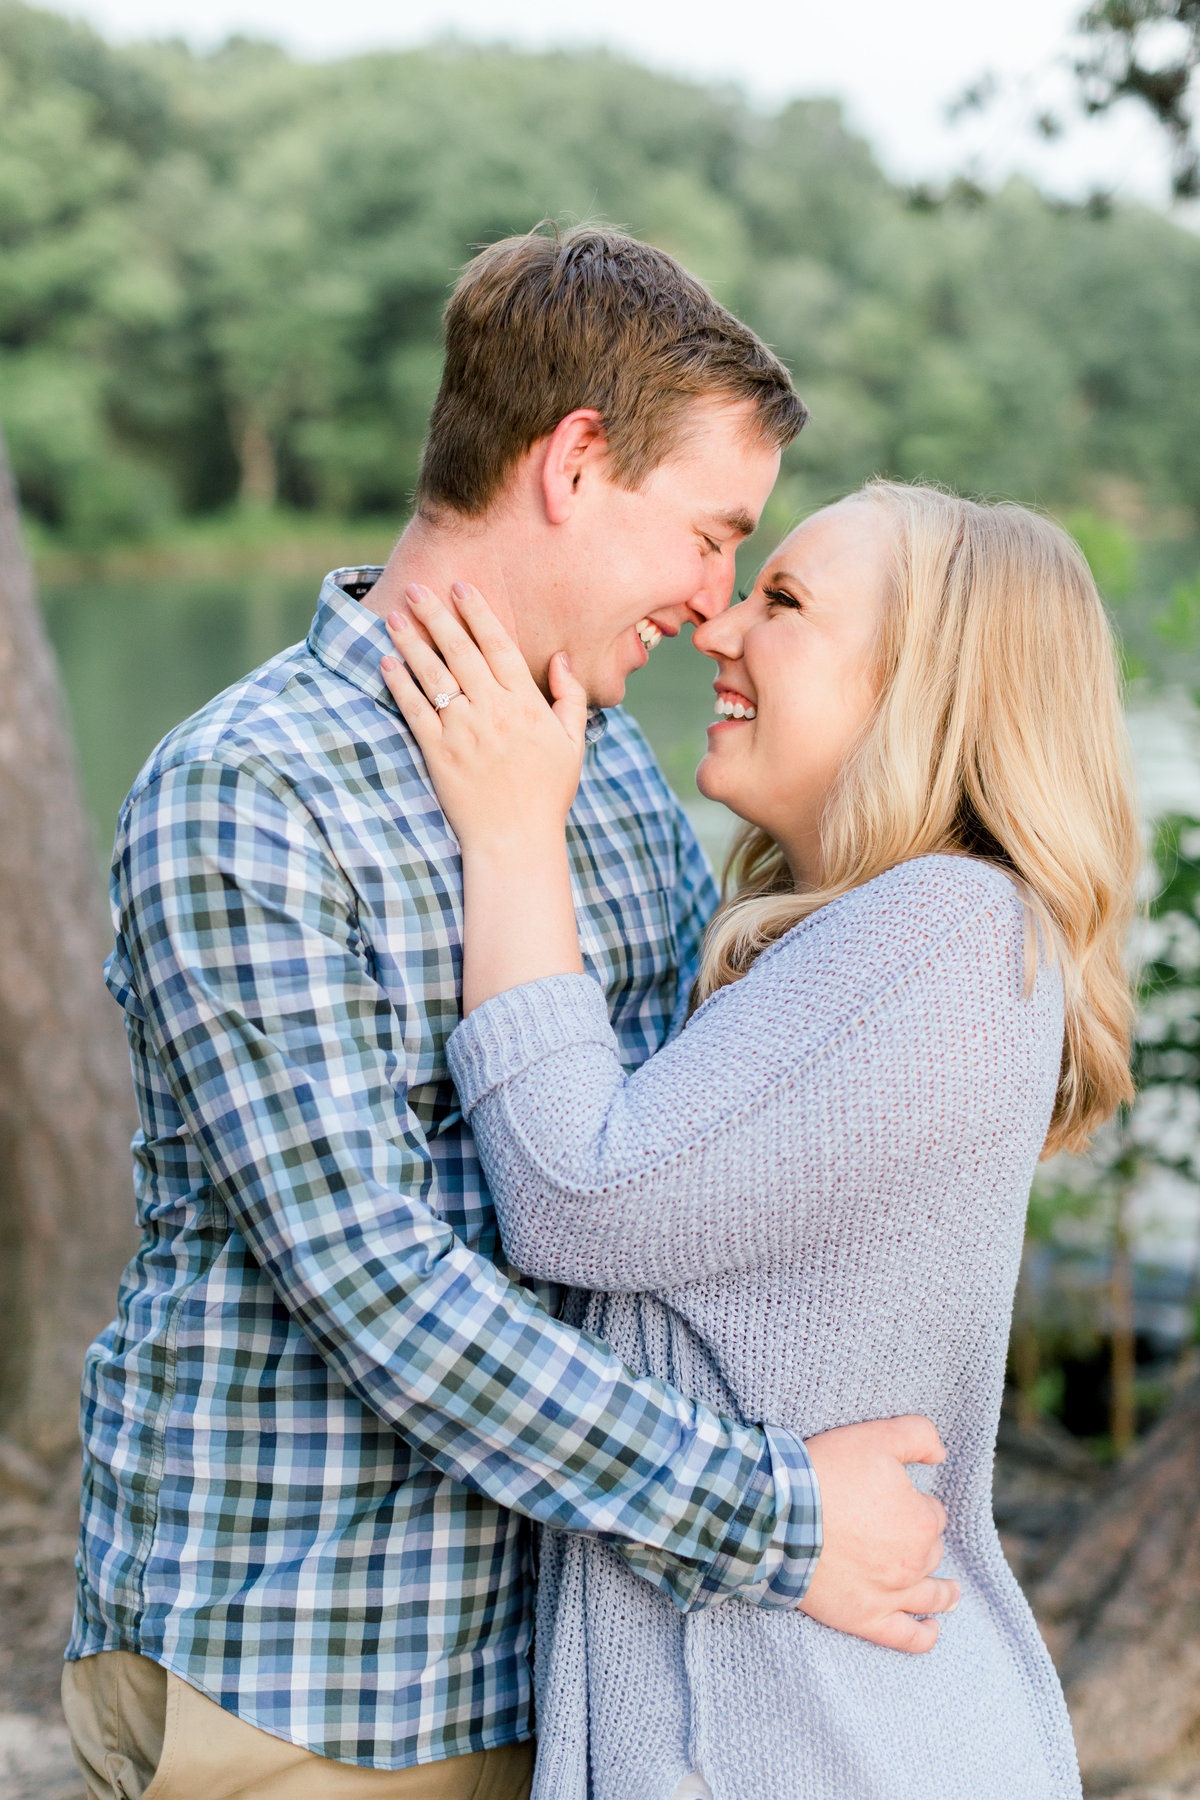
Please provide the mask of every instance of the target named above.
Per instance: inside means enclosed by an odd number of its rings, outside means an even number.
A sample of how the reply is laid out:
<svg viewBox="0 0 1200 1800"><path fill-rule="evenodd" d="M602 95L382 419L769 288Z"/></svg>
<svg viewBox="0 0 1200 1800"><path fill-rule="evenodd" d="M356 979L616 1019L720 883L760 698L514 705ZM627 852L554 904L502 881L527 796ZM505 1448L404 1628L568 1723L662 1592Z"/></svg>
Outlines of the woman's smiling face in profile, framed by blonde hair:
<svg viewBox="0 0 1200 1800"><path fill-rule="evenodd" d="M770 832L799 886L820 880L826 797L874 704L891 554L883 508L840 500L783 540L739 607L693 634L718 666L696 787Z"/></svg>

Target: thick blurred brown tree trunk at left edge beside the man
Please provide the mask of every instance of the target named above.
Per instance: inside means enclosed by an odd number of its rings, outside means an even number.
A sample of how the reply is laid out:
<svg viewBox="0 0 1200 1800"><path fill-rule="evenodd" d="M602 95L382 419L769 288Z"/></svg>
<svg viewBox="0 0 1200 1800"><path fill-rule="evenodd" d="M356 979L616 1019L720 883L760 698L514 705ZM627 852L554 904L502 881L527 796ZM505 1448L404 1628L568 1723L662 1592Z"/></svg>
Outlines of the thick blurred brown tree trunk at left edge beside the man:
<svg viewBox="0 0 1200 1800"><path fill-rule="evenodd" d="M54 1456L74 1440L83 1352L115 1312L133 1247L133 1094L101 979L103 884L2 445L0 844L0 1431Z"/></svg>

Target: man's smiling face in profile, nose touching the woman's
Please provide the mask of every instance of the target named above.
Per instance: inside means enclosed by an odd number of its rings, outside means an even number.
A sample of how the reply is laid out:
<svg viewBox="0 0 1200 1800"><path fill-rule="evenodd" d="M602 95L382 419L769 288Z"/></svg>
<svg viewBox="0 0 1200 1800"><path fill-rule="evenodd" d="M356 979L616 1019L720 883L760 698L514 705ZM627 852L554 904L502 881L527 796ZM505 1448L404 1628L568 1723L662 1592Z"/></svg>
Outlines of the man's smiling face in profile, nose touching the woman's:
<svg viewBox="0 0 1200 1800"><path fill-rule="evenodd" d="M666 637L729 607L734 551L757 526L779 452L754 430L748 403L696 401L675 452L644 486L588 473L570 520L556 529L538 617L525 619L531 666L565 650L594 706L617 706L649 652L639 625ZM525 635L538 643L527 643ZM653 630L648 632L655 641Z"/></svg>

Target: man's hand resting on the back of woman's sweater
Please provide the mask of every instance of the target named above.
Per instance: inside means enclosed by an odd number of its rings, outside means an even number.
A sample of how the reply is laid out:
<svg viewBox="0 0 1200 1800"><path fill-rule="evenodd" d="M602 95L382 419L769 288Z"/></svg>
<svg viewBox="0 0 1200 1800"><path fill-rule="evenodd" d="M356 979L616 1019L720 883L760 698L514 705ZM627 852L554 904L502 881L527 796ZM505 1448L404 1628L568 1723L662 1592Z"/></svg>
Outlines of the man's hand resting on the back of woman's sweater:
<svg viewBox="0 0 1200 1800"><path fill-rule="evenodd" d="M824 1548L801 1611L889 1651L932 1651L937 1620L959 1584L936 1580L946 1508L919 1494L905 1463L941 1463L946 1449L928 1418L880 1418L808 1438L820 1485Z"/></svg>

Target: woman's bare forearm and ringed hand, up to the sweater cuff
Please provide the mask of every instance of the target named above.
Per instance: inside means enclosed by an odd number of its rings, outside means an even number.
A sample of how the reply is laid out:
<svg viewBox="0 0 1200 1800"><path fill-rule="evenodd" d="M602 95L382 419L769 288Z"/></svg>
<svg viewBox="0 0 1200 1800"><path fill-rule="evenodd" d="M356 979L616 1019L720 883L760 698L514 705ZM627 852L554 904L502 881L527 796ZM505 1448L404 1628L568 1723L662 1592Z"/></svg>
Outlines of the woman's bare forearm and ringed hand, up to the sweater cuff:
<svg viewBox="0 0 1200 1800"><path fill-rule="evenodd" d="M565 655L551 661L554 704L542 698L473 587L455 581L457 617L428 589L410 587L405 599L412 617L387 619L405 662L383 657L383 680L462 848L468 1013L493 994L583 968L565 823L588 704Z"/></svg>

